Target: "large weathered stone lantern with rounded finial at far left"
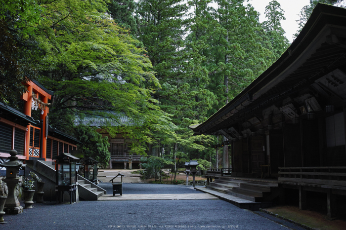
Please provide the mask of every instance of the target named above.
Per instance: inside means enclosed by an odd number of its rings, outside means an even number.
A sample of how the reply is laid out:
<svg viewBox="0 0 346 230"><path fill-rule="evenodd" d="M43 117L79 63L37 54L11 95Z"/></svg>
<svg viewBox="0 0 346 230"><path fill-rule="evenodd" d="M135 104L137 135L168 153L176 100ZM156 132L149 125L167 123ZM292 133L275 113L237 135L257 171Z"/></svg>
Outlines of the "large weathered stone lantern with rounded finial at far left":
<svg viewBox="0 0 346 230"><path fill-rule="evenodd" d="M16 195L16 187L18 183L22 181L22 178L19 178L19 169L24 168L26 164L22 164L17 160L16 150L11 150L9 154L11 155L8 157L9 161L0 164L1 167L6 168L6 178L3 179L3 181L8 187L8 195L4 210L6 214L15 215L23 212L23 207L20 206Z"/></svg>

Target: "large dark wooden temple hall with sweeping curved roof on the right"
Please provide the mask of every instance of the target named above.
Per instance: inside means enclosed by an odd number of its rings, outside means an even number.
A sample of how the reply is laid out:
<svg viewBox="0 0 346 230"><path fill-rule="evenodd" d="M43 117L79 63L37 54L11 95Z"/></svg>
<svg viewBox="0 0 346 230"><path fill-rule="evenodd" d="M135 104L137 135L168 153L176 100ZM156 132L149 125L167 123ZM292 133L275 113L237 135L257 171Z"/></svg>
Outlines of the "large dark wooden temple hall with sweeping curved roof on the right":
<svg viewBox="0 0 346 230"><path fill-rule="evenodd" d="M228 177L259 184L268 178L276 192L267 201L299 204L329 217L345 214L346 9L317 4L272 66L190 128L197 135L223 135L223 144L231 146L231 175L214 174L214 183ZM250 186L231 187L224 191L260 200ZM258 186L263 194L266 189Z"/></svg>

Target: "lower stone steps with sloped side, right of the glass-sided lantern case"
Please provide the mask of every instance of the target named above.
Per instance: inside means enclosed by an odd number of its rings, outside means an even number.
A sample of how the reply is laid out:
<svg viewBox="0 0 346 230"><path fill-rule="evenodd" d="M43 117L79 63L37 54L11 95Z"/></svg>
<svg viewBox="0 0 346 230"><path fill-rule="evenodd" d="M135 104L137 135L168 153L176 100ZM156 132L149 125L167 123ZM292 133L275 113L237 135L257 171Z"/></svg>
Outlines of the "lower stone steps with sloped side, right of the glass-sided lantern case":
<svg viewBox="0 0 346 230"><path fill-rule="evenodd" d="M98 197L107 193L106 190L95 185L81 175L78 175L77 185L79 198L83 200L98 200Z"/></svg>

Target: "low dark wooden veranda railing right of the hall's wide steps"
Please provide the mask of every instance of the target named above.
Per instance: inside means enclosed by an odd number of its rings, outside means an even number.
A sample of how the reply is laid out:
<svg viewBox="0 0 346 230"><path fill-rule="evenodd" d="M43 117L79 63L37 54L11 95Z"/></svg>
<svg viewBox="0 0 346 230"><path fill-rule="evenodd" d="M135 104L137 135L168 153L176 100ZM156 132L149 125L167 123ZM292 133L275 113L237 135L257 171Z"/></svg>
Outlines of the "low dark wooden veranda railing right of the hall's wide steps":
<svg viewBox="0 0 346 230"><path fill-rule="evenodd" d="M279 167L278 181L283 183L346 186L346 167Z"/></svg>

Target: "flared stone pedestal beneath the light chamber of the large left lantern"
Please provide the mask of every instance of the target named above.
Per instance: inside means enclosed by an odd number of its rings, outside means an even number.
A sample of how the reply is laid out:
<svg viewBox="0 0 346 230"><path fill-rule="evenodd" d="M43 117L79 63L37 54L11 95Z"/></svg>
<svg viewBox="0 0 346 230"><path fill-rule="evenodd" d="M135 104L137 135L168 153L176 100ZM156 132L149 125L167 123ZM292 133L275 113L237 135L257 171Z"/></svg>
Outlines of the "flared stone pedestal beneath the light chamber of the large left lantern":
<svg viewBox="0 0 346 230"><path fill-rule="evenodd" d="M18 183L22 181L21 178L5 178L3 181L7 184L8 195L4 207L4 211L7 215L16 215L23 212L23 207L20 206L17 195L16 187Z"/></svg>

